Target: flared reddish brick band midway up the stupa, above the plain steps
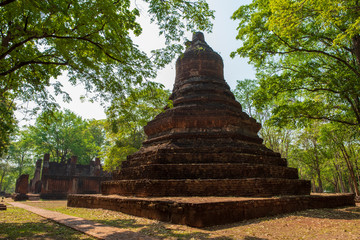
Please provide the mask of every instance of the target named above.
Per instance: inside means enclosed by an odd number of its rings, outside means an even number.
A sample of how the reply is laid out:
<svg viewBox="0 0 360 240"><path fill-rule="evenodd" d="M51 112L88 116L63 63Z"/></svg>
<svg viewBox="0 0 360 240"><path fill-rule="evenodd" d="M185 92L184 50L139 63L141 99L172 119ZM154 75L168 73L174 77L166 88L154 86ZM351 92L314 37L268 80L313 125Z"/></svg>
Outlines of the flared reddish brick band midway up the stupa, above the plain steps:
<svg viewBox="0 0 360 240"><path fill-rule="evenodd" d="M204 109L206 108L206 111ZM172 110L179 110L178 113ZM209 110L209 105L192 105L183 107L181 110L170 109L166 112L167 118L155 119L149 122L144 128L148 139L143 142L144 146L157 144L166 140L200 140L201 142L213 142L220 140L225 142L228 139L245 141L253 144L261 144L263 140L254 132L259 129L252 129L256 124L249 119L242 119L243 113L229 112L224 106L218 105ZM232 126L231 131L227 126ZM176 129L176 131L174 131ZM201 143L200 142L200 143Z"/></svg>

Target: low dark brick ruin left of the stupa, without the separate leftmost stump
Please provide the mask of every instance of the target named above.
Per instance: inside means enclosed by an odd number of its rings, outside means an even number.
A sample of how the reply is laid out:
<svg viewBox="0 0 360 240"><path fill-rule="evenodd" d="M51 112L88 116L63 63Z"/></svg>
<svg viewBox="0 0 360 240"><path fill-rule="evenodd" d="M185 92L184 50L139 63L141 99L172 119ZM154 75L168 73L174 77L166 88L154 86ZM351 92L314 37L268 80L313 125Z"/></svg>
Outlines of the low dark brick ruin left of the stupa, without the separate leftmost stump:
<svg viewBox="0 0 360 240"><path fill-rule="evenodd" d="M100 193L102 181L111 179L110 174L103 171L100 159L96 158L88 165L77 164L77 157L72 156L67 163L50 162L50 155L44 155L41 174L41 188L33 184L35 192L40 192L43 199L64 199L70 193ZM38 168L35 170L37 177Z"/></svg>

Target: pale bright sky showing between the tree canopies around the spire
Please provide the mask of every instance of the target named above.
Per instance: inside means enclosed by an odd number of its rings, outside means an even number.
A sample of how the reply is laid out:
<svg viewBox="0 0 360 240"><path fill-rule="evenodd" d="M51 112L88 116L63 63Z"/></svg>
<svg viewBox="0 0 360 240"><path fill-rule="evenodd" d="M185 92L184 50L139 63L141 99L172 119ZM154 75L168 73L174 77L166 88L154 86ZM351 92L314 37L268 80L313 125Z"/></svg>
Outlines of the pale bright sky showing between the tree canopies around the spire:
<svg viewBox="0 0 360 240"><path fill-rule="evenodd" d="M247 63L247 59L235 57L230 58L230 53L241 46L241 41L236 40L238 22L230 19L233 12L242 4L249 4L251 0L208 0L210 9L215 10L215 20L213 21L212 33L204 33L205 41L210 47L221 55L224 61L224 77L231 89L236 87L237 80L255 78L255 71ZM163 47L163 38L158 36L156 25L151 25L150 19L146 15L146 10L141 11L140 23L143 26L143 33L134 39L134 42L145 51ZM191 40L192 33L186 33L186 37ZM149 41L151 39L151 41ZM66 76L61 76L60 81L64 85L64 90L72 98L71 103L62 102L61 98L57 101L63 109L70 109L84 119L105 119L104 109L98 103L83 102L80 100L85 95L82 86L72 86L67 82ZM158 72L154 80L162 83L166 89L172 90L175 82L175 60L165 69ZM21 118L21 116L20 116Z"/></svg>

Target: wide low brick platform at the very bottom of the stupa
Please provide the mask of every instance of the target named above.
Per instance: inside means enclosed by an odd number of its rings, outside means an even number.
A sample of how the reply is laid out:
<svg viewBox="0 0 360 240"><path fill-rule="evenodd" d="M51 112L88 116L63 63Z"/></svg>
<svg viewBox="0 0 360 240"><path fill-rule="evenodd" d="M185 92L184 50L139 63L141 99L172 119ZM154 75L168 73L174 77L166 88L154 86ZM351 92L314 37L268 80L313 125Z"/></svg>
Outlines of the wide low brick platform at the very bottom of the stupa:
<svg viewBox="0 0 360 240"><path fill-rule="evenodd" d="M208 227L311 208L354 206L352 194L312 194L271 198L68 196L68 207L104 208L192 227Z"/></svg>

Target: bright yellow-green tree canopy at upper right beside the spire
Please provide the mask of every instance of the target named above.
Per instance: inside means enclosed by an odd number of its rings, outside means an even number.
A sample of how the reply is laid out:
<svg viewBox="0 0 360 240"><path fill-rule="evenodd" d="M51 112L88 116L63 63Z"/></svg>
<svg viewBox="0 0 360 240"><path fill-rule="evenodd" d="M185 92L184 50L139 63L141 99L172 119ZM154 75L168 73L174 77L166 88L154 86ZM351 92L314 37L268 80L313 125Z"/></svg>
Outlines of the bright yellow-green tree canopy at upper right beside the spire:
<svg viewBox="0 0 360 240"><path fill-rule="evenodd" d="M308 119L360 125L360 2L254 0L241 6L232 53L257 70L258 106L279 125Z"/></svg>

